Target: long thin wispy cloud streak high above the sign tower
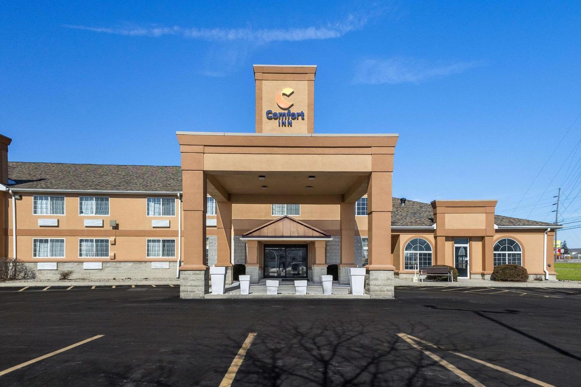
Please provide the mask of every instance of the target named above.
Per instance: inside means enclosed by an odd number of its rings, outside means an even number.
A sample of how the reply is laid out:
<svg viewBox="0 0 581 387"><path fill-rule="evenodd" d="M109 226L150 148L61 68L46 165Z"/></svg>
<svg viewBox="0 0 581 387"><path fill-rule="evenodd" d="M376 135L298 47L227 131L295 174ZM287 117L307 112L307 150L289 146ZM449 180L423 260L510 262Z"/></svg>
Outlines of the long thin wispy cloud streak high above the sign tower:
<svg viewBox="0 0 581 387"><path fill-rule="evenodd" d="M126 36L162 37L176 35L184 38L205 41L231 42L247 41L255 43L296 42L304 40L324 40L339 38L363 28L368 18L365 16L348 16L341 22L328 23L320 27L303 28L199 28L199 27L87 27L65 24L63 27L96 33Z"/></svg>

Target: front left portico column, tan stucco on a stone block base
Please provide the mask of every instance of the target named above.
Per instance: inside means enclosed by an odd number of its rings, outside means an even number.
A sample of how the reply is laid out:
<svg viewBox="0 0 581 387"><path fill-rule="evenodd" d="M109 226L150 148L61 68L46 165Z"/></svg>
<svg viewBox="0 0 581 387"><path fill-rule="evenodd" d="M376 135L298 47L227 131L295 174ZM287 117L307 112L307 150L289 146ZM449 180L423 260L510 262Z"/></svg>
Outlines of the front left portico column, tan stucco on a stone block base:
<svg viewBox="0 0 581 387"><path fill-rule="evenodd" d="M182 163L185 164L185 163ZM182 171L184 200L183 264L180 266L180 298L203 298L209 291L206 259L206 174Z"/></svg>

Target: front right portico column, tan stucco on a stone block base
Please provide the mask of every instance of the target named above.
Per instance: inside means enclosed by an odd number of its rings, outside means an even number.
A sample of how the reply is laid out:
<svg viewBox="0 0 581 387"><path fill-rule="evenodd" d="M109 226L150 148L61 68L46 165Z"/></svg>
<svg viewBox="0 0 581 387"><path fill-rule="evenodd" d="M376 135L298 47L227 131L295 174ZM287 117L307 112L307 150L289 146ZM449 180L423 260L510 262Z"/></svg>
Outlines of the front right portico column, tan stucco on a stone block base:
<svg viewBox="0 0 581 387"><path fill-rule="evenodd" d="M381 155L384 156L384 155ZM365 292L393 298L392 173L374 171L367 192L368 264Z"/></svg>

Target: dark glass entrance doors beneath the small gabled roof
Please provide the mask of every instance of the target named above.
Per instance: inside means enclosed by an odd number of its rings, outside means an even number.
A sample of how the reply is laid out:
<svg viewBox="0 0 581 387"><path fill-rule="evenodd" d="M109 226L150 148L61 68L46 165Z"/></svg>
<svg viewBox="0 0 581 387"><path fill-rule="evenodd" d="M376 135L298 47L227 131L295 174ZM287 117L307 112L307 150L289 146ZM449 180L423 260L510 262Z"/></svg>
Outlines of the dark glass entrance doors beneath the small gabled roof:
<svg viewBox="0 0 581 387"><path fill-rule="evenodd" d="M264 277L307 278L307 245L264 245Z"/></svg>

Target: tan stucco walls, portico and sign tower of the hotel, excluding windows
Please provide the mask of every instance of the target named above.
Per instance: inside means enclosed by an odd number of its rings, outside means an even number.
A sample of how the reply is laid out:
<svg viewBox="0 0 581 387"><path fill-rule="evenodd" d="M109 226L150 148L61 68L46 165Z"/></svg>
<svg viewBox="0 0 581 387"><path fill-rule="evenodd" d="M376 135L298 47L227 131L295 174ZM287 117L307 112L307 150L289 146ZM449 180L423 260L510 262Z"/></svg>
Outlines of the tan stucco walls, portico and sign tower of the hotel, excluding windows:
<svg viewBox="0 0 581 387"><path fill-rule="evenodd" d="M253 70L254 133L177 133L181 192L33 191L15 187L11 192L19 198L12 199L9 192L2 191L3 254L28 263L171 261L175 268L179 266L183 298L199 298L207 292L208 241L215 243L211 249L216 256L211 264L227 267L229 281L234 263L245 264L247 273L258 281L265 267L264 245L292 243L307 248L309 279L316 281L319 274L326 274L332 261L338 264L343 283L348 282L347 270L361 264L356 256L357 252L361 256L365 241L367 292L382 298L393 296L394 275L413 275L404 262L406 245L415 238L428 242L432 264L449 266L455 265L455 241L467 238L469 278L490 277L493 246L502 238L519 243L522 265L530 275L555 275L552 245L546 243L553 239L554 227L498 226L494 223L496 200L435 200L433 224L392 227L392 174L398 135L317 134L313 119L316 66L256 65ZM274 119L272 113L285 116ZM283 119L292 124L283 124ZM8 188L9 144L10 139L0 137L0 178ZM64 196L64 215L34 215L34 195ZM216 214L207 214L209 195L216 200ZM80 196L106 196L109 215L80 215ZM367 213L356 215L356 202L362 196L367 196ZM175 216L148 216L148 198L174 198ZM292 217L327 237L243 238L249 230L279 216L272 213L274 204L300 205L300 212ZM40 218L56 219L58 225L39 225ZM102 225L85 225L91 218L102 220ZM112 220L117 227L110 225ZM168 224L157 227L152 220ZM34 238L64 239L64 257L33 257ZM109 256L79 257L81 238L109 239ZM175 256L148 258L148 239L175 239Z"/></svg>

